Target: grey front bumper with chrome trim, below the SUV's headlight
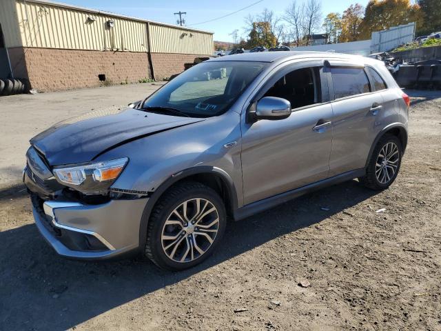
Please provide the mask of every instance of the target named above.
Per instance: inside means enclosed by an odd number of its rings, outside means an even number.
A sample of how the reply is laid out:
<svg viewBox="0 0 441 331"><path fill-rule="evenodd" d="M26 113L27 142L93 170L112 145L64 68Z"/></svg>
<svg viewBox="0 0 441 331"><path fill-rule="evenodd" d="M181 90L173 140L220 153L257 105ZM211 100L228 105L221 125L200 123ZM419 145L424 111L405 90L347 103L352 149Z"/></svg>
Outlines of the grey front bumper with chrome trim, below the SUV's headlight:
<svg viewBox="0 0 441 331"><path fill-rule="evenodd" d="M37 228L61 256L109 259L139 248L139 229L147 200L85 205L42 201L32 196L32 212Z"/></svg>

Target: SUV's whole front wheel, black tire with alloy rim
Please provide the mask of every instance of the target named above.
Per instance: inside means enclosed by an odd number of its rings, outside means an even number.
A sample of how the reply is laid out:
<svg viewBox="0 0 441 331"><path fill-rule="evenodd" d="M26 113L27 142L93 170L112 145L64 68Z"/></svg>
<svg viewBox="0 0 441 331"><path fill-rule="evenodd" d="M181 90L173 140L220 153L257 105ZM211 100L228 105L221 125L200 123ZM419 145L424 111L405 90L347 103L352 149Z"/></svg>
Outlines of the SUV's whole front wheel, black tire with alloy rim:
<svg viewBox="0 0 441 331"><path fill-rule="evenodd" d="M145 255L166 270L192 268L216 249L226 223L225 205L212 188L194 181L178 183L152 211Z"/></svg>

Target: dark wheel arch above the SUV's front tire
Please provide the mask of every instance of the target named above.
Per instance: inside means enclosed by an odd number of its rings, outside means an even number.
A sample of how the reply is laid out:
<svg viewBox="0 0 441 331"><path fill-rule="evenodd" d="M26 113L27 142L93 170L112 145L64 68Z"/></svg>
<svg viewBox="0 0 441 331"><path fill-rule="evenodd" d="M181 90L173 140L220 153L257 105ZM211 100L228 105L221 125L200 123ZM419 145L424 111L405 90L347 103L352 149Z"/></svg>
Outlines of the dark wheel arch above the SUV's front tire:
<svg viewBox="0 0 441 331"><path fill-rule="evenodd" d="M233 214L234 210L238 208L237 192L234 181L225 170L209 165L202 165L176 172L176 174L172 174L172 176L161 183L161 185L151 193L147 205L145 205L139 228L139 248L141 250L143 250L145 246L147 225L154 206L169 188L181 181L198 181L199 183L203 183L209 188L215 190L225 202L227 214L230 216Z"/></svg>

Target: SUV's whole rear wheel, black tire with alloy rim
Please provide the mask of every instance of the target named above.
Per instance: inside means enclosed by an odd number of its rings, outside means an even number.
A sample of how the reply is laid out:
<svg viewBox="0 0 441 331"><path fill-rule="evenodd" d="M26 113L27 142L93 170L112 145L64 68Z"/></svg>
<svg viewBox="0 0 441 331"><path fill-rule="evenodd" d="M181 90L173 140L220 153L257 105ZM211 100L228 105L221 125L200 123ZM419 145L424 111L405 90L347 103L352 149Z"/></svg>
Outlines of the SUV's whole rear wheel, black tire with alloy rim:
<svg viewBox="0 0 441 331"><path fill-rule="evenodd" d="M400 171L402 145L398 137L385 134L373 149L366 176L358 180L372 190L385 190L395 181Z"/></svg>

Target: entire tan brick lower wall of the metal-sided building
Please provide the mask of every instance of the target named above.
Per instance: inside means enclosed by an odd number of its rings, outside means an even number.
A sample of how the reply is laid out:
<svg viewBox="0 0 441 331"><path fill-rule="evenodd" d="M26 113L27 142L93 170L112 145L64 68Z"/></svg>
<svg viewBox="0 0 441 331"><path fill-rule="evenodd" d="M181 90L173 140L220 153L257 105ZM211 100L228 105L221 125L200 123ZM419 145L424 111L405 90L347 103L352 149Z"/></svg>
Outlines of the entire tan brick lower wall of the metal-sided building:
<svg viewBox="0 0 441 331"><path fill-rule="evenodd" d="M100 52L57 48L10 48L14 76L28 78L32 88L47 92L134 83L150 77L143 52ZM156 80L183 72L184 63L207 55L152 53ZM98 75L105 74L105 82Z"/></svg>

